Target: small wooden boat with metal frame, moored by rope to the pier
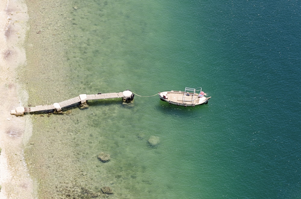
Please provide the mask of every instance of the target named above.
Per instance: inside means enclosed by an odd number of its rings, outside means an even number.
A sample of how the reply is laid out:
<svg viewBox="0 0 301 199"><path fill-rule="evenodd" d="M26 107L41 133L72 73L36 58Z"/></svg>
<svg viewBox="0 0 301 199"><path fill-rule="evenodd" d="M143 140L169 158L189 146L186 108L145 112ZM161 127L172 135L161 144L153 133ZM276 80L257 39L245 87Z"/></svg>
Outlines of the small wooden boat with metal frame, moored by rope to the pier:
<svg viewBox="0 0 301 199"><path fill-rule="evenodd" d="M162 101L184 107L207 104L211 98L206 97L206 93L202 91L201 87L196 89L186 87L185 91L165 91L158 92L158 94Z"/></svg>

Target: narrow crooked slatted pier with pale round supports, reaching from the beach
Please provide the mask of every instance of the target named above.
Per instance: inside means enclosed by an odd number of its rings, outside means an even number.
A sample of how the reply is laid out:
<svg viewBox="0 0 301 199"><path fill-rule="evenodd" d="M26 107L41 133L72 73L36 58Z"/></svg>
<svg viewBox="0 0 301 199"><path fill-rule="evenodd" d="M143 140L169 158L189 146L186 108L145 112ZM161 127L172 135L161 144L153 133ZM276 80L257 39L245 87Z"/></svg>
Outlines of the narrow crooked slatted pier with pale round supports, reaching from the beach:
<svg viewBox="0 0 301 199"><path fill-rule="evenodd" d="M74 106L80 106L87 103L88 100L100 100L100 99L112 99L112 98L122 98L123 101L130 102L134 99L134 94L130 90L126 90L119 93L98 93L98 94L81 94L75 98L71 98L59 103L54 103L52 105L38 105L35 107L17 107L11 110L11 115L23 116L24 114L32 113L51 113L51 112L61 112L62 109L67 109Z"/></svg>

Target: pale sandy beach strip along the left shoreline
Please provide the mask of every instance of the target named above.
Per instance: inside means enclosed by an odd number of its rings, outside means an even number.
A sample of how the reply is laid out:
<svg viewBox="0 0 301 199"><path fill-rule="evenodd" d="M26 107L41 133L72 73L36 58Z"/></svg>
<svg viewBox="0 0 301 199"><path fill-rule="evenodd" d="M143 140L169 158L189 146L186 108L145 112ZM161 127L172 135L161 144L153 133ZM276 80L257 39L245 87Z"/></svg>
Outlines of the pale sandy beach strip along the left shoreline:
<svg viewBox="0 0 301 199"><path fill-rule="evenodd" d="M23 44L28 30L27 21L27 7L23 1L0 2L0 198L3 199L37 198L23 153L24 132L30 125L25 127L25 117L10 114L11 109L22 106L26 101L26 93L17 82L17 68L26 64Z"/></svg>

